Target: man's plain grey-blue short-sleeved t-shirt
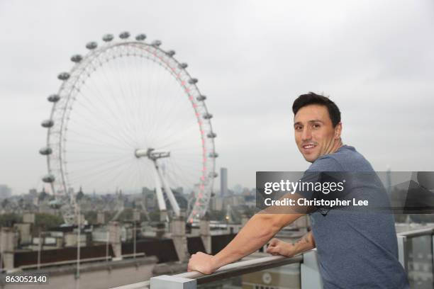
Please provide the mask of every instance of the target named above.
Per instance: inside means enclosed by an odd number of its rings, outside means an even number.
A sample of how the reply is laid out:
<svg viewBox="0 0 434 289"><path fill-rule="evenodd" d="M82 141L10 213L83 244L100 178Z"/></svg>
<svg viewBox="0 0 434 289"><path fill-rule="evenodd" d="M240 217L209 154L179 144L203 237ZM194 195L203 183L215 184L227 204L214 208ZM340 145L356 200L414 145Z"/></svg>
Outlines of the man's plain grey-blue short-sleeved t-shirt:
<svg viewBox="0 0 434 289"><path fill-rule="evenodd" d="M344 145L337 152L316 159L306 172L325 171L374 170L354 147ZM371 185L359 182L353 193L369 191ZM324 289L410 288L399 263L390 212L332 209L316 210L309 216Z"/></svg>

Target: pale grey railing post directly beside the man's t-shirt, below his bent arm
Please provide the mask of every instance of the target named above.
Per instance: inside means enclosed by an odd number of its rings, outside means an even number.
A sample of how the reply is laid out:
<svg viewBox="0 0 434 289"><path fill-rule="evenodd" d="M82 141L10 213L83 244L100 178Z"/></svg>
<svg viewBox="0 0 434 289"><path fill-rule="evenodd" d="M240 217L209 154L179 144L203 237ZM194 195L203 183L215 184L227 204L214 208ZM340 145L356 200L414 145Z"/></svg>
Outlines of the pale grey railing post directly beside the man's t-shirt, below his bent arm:
<svg viewBox="0 0 434 289"><path fill-rule="evenodd" d="M300 265L301 289L323 288L316 249L303 254Z"/></svg>

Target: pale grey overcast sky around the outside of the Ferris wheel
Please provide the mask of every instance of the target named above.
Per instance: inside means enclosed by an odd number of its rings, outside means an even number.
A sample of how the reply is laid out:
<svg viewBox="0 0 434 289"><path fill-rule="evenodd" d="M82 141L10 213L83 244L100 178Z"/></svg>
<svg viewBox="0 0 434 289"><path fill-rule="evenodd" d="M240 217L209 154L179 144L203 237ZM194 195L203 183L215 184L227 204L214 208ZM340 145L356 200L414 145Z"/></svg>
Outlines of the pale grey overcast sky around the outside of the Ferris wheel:
<svg viewBox="0 0 434 289"><path fill-rule="evenodd" d="M308 167L291 113L308 91L340 106L343 141L374 169L433 171L433 28L430 0L1 0L0 183L42 187L40 122L57 74L89 40L123 30L162 40L189 64L230 187L255 186L255 171Z"/></svg>

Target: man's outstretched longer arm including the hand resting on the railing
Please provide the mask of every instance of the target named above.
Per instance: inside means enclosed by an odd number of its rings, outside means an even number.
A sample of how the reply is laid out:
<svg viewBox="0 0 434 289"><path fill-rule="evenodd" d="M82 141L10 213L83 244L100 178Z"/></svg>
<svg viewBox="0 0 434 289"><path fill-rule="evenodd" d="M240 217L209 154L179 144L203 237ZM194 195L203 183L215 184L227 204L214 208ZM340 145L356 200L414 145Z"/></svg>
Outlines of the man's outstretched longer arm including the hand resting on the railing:
<svg viewBox="0 0 434 289"><path fill-rule="evenodd" d="M210 256L197 253L191 256L188 271L210 274L228 263L233 263L252 254L267 244L269 239L286 225L294 222L304 213L270 214L258 213L250 218L237 236L218 254Z"/></svg>

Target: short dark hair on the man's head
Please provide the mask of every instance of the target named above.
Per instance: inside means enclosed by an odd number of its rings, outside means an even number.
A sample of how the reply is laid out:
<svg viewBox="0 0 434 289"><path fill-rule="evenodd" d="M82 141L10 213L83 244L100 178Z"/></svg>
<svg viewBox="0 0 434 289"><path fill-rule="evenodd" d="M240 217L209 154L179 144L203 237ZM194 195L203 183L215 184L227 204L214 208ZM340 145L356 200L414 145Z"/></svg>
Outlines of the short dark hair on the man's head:
<svg viewBox="0 0 434 289"><path fill-rule="evenodd" d="M340 111L338 106L336 106L333 101L330 101L330 98L321 96L320 94L314 94L313 92L301 94L292 104L292 111L294 115L296 115L300 108L311 104L318 104L319 106L325 106L327 108L333 128L340 123Z"/></svg>

